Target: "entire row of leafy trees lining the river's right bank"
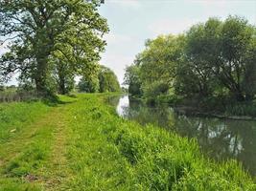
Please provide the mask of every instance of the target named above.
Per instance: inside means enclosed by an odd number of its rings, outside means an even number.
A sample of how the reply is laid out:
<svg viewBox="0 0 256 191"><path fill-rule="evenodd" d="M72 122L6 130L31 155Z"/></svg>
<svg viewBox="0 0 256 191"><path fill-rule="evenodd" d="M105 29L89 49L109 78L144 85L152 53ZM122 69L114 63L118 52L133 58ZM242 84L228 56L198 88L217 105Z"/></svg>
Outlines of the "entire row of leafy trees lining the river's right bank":
<svg viewBox="0 0 256 191"><path fill-rule="evenodd" d="M145 46L126 70L132 96L243 102L256 95L256 28L242 17L209 18Z"/></svg>

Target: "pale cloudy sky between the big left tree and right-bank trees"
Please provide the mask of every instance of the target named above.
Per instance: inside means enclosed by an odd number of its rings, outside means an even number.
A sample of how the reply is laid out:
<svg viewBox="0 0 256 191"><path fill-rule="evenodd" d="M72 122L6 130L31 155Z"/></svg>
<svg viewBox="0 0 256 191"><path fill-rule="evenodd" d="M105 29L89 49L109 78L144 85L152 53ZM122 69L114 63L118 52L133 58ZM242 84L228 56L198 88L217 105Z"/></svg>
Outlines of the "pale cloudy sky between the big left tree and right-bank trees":
<svg viewBox="0 0 256 191"><path fill-rule="evenodd" d="M124 81L126 66L144 49L146 39L186 32L209 17L243 16L256 25L256 0L105 0L99 8L110 32L101 64Z"/></svg>

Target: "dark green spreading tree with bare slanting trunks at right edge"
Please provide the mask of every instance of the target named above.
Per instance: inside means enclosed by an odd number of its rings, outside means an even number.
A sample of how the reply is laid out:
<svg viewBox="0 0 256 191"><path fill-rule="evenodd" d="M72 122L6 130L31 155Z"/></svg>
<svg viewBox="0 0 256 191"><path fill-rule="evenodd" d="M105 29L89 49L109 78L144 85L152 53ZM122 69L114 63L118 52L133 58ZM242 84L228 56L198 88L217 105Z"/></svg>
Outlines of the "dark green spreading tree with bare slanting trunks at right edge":
<svg viewBox="0 0 256 191"><path fill-rule="evenodd" d="M255 75L254 32L255 28L238 16L229 16L224 22L210 18L187 32L185 67L194 75L201 95L212 95L218 84L238 101L253 98L249 90L256 82L249 79Z"/></svg>

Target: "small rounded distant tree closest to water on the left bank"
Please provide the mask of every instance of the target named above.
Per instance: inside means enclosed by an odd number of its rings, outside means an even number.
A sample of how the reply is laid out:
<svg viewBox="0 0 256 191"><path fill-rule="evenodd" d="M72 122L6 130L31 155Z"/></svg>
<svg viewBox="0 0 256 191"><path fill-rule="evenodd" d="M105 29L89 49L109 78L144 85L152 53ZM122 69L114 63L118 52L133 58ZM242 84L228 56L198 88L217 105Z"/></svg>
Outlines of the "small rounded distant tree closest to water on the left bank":
<svg viewBox="0 0 256 191"><path fill-rule="evenodd" d="M101 66L98 74L100 92L119 92L121 90L117 76L109 68Z"/></svg>

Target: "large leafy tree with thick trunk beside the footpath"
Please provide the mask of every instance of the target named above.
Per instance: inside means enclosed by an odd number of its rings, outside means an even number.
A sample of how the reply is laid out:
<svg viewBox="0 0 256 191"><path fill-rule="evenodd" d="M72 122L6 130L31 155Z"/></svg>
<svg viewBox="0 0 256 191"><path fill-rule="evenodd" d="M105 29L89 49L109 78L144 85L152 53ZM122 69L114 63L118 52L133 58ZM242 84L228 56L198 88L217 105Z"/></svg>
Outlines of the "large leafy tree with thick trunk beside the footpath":
<svg viewBox="0 0 256 191"><path fill-rule="evenodd" d="M60 56L72 74L92 70L104 50L106 20L97 12L97 0L1 0L0 36L9 36L9 52L1 57L1 75L19 71L35 81L36 90L48 90L50 60ZM58 63L56 63L58 64Z"/></svg>

